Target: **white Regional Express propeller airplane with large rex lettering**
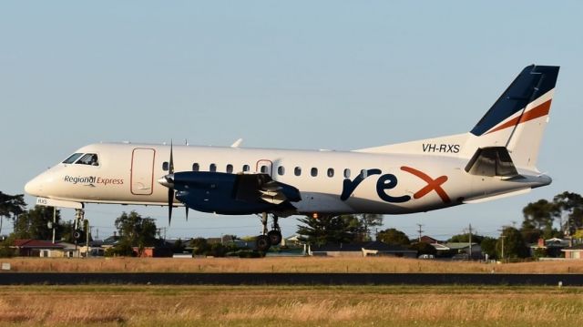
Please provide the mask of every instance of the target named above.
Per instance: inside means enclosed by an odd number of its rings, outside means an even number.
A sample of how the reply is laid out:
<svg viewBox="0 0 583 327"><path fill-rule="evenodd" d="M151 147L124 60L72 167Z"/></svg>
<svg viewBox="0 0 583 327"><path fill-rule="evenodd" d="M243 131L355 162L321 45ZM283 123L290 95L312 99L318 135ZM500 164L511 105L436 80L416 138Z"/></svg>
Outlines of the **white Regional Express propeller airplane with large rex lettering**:
<svg viewBox="0 0 583 327"><path fill-rule="evenodd" d="M351 151L97 143L26 183L37 204L184 206L261 214L259 250L281 242L280 217L405 214L527 193L558 66L527 66L469 132ZM268 230L268 215L272 216Z"/></svg>

